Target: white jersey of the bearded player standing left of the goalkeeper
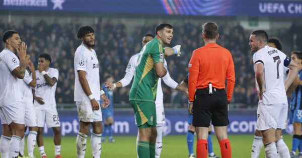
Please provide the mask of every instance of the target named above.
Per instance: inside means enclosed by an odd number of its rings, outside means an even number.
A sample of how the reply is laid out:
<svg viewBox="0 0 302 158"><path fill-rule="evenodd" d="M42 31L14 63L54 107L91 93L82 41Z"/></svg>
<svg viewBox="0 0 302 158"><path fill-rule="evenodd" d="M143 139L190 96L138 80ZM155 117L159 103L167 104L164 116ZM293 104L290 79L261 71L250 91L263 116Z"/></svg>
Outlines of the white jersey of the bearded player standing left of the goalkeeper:
<svg viewBox="0 0 302 158"><path fill-rule="evenodd" d="M99 61L94 49L91 51L82 43L74 54L74 101L89 100L79 81L78 71L86 71L89 88L96 100L101 99Z"/></svg>

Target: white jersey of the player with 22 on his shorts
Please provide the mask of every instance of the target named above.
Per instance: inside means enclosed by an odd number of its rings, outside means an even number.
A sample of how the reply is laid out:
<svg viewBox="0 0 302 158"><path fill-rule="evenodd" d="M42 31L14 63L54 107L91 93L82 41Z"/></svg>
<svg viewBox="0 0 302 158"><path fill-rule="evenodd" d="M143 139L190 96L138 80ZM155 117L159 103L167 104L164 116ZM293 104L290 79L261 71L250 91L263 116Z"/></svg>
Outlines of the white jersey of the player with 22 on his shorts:
<svg viewBox="0 0 302 158"><path fill-rule="evenodd" d="M56 78L57 80L59 78L59 71L55 68L48 68L46 73L50 78ZM40 104L35 100L34 101L35 108L40 110L45 110L52 107L56 107L54 95L55 95L57 82L53 86L48 85L43 74L40 73L38 70L36 70L36 79L37 79L37 85L34 88L35 95L37 97L41 97L43 99L44 104Z"/></svg>

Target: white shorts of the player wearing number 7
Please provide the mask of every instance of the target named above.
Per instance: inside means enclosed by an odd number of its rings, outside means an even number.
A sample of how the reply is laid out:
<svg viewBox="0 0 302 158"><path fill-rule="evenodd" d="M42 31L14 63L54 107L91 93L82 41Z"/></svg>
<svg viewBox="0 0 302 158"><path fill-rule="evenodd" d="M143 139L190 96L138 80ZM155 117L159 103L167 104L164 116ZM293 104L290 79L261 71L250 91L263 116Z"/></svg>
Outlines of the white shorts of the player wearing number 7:
<svg viewBox="0 0 302 158"><path fill-rule="evenodd" d="M257 109L257 129L285 129L287 108L287 104L264 105L260 102Z"/></svg>

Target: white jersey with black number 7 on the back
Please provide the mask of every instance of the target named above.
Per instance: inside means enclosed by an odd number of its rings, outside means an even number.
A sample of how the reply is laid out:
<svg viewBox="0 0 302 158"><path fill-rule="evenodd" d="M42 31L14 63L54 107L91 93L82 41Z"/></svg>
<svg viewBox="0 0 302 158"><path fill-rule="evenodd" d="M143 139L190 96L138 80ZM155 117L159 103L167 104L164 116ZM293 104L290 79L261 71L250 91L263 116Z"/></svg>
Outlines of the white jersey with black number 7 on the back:
<svg viewBox="0 0 302 158"><path fill-rule="evenodd" d="M264 65L264 88L266 91L263 93L263 103L265 105L287 104L283 66L289 64L290 58L275 48L265 46L253 55L253 62L254 71L256 64L262 63ZM256 85L257 90L259 90L257 82Z"/></svg>

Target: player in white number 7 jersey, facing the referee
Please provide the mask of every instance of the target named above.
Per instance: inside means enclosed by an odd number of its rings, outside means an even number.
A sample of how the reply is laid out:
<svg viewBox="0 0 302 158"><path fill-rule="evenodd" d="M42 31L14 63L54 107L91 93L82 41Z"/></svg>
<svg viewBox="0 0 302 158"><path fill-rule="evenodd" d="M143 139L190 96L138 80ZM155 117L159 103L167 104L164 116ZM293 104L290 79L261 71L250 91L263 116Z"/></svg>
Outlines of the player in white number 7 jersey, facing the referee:
<svg viewBox="0 0 302 158"><path fill-rule="evenodd" d="M282 129L286 127L286 90L297 75L298 66L281 51L267 45L268 36L263 30L251 33L251 47L258 90L257 129L261 131L265 155L270 157L290 157L283 139ZM281 64L281 66L280 66ZM283 65L290 69L283 81Z"/></svg>

